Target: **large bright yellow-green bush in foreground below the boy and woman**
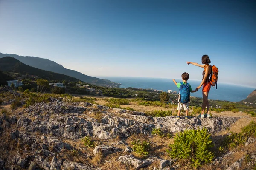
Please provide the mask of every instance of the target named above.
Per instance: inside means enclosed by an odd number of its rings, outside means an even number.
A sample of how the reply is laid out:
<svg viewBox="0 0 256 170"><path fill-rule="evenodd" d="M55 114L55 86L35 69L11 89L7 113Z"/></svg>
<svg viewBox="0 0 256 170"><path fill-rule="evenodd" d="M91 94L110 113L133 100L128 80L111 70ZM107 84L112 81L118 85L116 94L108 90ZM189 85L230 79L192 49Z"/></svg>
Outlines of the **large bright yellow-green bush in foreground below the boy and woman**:
<svg viewBox="0 0 256 170"><path fill-rule="evenodd" d="M212 139L206 128L176 133L174 143L170 144L170 147L171 150L166 150L170 157L188 159L195 168L209 163L214 157L211 152Z"/></svg>

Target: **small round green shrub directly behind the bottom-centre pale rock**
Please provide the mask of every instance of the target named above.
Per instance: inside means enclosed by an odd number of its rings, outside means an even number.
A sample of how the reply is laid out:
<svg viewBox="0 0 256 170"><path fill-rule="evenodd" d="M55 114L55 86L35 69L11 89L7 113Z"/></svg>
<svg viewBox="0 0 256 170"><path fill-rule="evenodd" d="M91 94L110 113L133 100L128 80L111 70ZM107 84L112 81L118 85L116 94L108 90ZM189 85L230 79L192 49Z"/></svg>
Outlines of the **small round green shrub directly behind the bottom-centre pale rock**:
<svg viewBox="0 0 256 170"><path fill-rule="evenodd" d="M150 149L150 142L147 141L132 141L131 142L132 149L135 153L139 154L140 156L148 156L148 150Z"/></svg>

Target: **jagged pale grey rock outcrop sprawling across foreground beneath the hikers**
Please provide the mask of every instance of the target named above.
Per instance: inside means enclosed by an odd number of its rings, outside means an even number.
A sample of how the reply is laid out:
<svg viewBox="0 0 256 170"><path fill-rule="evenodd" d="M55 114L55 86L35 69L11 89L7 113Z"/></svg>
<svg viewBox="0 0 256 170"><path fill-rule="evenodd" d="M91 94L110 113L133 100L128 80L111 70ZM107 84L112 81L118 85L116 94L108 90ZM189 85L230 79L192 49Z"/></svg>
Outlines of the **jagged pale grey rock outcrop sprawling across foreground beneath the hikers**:
<svg viewBox="0 0 256 170"><path fill-rule="evenodd" d="M100 113L100 118L90 117ZM145 113L127 111L124 109L109 108L107 106L90 104L87 102L73 102L68 104L61 99L50 98L49 103L35 103L22 112L13 116L0 116L0 133L6 130L9 138L22 153L13 156L11 163L16 169L84 169L96 170L89 163L61 158L63 151L76 155L82 148L76 144L84 136L92 139L109 141L119 136L124 139L113 144L99 144L93 150L97 155L109 156L114 153L121 154L119 162L131 164L135 168L148 167L154 161L160 164L159 169L170 167L173 160L164 160L157 157L137 159L130 152L132 148L125 143L125 139L132 134L151 135L154 128L160 128L164 132L181 132L187 129L207 128L215 134L226 129L239 118L197 118L175 119L175 116L151 117ZM11 130L9 130L11 128ZM76 141L76 144L66 142ZM81 144L81 142L80 142ZM124 150L120 147L125 148ZM80 148L81 151L78 150ZM82 153L87 157L85 153ZM61 159L60 159L61 158ZM0 159L2 169L6 167L6 161ZM8 167L10 167L8 163ZM0 169L1 170L1 169Z"/></svg>

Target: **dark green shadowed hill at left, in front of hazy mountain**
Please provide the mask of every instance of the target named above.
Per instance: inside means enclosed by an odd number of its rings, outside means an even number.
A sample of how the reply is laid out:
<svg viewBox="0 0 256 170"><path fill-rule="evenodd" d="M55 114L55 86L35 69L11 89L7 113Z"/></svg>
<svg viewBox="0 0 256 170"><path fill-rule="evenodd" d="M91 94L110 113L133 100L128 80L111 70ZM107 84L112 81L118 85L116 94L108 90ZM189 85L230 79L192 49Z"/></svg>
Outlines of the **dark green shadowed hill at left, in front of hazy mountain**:
<svg viewBox="0 0 256 170"><path fill-rule="evenodd" d="M79 79L66 76L64 74L58 74L51 71L45 71L45 70L31 67L29 65L23 64L22 62L20 62L19 60L13 57L0 58L0 69L1 71L39 76L40 78L47 79L47 80L56 80L56 81L68 80L72 82L79 81Z"/></svg>

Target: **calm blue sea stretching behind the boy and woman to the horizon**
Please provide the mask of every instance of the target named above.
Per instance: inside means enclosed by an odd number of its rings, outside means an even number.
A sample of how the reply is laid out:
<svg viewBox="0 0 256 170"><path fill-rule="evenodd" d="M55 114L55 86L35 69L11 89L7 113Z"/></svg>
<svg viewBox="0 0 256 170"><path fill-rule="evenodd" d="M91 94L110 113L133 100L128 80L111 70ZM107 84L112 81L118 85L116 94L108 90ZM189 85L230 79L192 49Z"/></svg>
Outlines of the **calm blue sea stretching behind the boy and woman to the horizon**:
<svg viewBox="0 0 256 170"><path fill-rule="evenodd" d="M121 83L120 88L143 88L143 89L155 89L162 91L179 91L177 86L173 83L172 79L162 79L162 78L146 78L146 77L99 77L101 79L108 79L113 82ZM182 82L181 79L175 79L176 82ZM192 90L200 85L201 81L188 80L191 85ZM225 84L218 82L216 87L211 87L208 99L213 100L226 100L230 102L239 102L247 98L247 96L255 88ZM191 96L202 97L202 87L195 93L191 93Z"/></svg>

